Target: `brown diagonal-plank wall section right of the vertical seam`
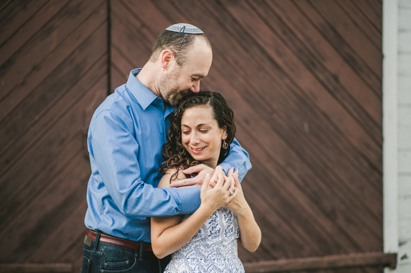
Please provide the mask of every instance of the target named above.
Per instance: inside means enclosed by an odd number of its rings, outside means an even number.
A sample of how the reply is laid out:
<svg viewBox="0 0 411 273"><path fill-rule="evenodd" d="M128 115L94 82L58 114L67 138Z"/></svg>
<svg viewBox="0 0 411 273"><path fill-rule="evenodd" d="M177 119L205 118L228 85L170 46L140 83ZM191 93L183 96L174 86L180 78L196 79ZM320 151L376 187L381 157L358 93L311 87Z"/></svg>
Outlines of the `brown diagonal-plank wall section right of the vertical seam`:
<svg viewBox="0 0 411 273"><path fill-rule="evenodd" d="M201 88L234 110L263 232L243 262L382 252L381 18L379 0L111 1L111 91L167 26L211 40Z"/></svg>

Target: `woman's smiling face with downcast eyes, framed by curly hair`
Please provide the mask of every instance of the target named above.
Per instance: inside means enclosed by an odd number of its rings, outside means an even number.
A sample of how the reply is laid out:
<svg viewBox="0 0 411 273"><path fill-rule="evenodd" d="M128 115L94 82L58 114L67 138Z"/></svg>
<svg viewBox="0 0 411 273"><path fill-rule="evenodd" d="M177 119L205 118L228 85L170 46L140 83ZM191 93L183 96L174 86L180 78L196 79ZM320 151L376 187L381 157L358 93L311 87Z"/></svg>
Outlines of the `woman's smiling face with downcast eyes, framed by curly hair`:
<svg viewBox="0 0 411 273"><path fill-rule="evenodd" d="M181 118L181 141L185 150L209 167L217 166L221 139L226 139L226 134L226 126L218 128L210 107L189 108Z"/></svg>

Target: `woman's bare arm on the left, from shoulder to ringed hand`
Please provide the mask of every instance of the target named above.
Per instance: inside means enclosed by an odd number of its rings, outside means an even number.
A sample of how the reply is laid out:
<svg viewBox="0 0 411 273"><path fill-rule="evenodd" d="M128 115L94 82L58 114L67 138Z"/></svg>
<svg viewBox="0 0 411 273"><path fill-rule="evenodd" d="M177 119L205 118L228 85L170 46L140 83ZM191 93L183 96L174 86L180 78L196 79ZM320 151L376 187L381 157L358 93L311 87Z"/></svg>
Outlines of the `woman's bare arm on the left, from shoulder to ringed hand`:
<svg viewBox="0 0 411 273"><path fill-rule="evenodd" d="M210 175L204 179L204 183L201 186L201 205L197 211L184 222L181 222L181 216L151 218L152 248L158 258L164 258L183 247L194 237L200 227L218 208L234 198L236 193L230 196L228 191L230 182L224 182L221 172L221 168L216 169L217 174L214 175L217 176L218 182L214 188L209 186ZM171 174L167 173L163 176L159 184L160 187L170 187L170 177L172 173L174 173L174 171L171 171ZM177 179L178 178L179 177L177 177Z"/></svg>

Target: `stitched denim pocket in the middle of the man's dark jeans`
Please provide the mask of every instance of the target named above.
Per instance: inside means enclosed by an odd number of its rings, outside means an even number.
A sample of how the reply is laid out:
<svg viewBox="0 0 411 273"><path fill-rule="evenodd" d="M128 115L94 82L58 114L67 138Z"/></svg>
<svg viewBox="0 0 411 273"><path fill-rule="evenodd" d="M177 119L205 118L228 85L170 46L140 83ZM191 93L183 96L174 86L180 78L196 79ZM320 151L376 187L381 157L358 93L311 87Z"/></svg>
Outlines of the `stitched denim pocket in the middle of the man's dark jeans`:
<svg viewBox="0 0 411 273"><path fill-rule="evenodd" d="M136 256L131 251L117 247L105 246L103 248L103 259L101 269L104 272L126 272L136 263ZM103 272L100 270L101 272Z"/></svg>

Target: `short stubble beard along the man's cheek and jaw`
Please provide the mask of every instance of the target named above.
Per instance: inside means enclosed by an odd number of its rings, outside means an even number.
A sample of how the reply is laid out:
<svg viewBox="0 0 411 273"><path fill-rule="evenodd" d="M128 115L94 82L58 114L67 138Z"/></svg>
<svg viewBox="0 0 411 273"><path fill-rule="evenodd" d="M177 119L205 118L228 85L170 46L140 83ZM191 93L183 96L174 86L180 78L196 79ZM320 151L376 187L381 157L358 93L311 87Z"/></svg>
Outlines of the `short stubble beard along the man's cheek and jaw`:
<svg viewBox="0 0 411 273"><path fill-rule="evenodd" d="M177 79L180 76L180 69L175 67L170 74L164 75L159 80L160 94L163 100L171 106L177 106L181 99L177 99L181 91L177 86Z"/></svg>

